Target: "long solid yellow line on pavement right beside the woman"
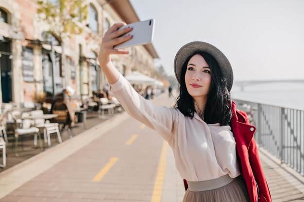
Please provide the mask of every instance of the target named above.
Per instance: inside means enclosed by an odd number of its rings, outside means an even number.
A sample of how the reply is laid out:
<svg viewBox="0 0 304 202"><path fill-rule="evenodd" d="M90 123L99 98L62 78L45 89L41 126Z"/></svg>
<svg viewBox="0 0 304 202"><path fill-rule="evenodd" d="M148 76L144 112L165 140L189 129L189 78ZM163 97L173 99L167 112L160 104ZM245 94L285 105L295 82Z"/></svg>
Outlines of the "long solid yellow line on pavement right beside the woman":
<svg viewBox="0 0 304 202"><path fill-rule="evenodd" d="M162 201L162 193L163 193L163 186L164 186L165 173L166 173L167 149L168 149L168 143L164 141L162 153L160 155L160 159L158 163L151 202Z"/></svg>

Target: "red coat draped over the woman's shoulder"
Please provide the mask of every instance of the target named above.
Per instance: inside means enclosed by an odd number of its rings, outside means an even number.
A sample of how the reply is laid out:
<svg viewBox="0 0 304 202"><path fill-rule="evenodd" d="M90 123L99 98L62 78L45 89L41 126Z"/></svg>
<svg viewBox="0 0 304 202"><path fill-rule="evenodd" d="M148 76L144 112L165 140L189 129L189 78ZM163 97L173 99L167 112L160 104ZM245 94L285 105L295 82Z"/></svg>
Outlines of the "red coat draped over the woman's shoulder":
<svg viewBox="0 0 304 202"><path fill-rule="evenodd" d="M262 169L253 134L256 128L249 124L247 114L232 103L231 128L236 140L236 153L251 202L272 202L268 184ZM188 188L184 180L185 188Z"/></svg>

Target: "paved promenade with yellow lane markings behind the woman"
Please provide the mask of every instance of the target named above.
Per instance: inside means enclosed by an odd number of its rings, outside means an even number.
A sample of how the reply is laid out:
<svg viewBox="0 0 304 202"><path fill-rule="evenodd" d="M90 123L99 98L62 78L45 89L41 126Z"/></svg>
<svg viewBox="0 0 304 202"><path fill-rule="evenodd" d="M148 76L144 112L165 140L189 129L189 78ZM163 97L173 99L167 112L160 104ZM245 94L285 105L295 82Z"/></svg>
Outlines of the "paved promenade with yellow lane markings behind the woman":
<svg viewBox="0 0 304 202"><path fill-rule="evenodd" d="M303 201L304 177L260 155L273 201ZM181 202L184 193L168 144L126 113L0 173L0 202Z"/></svg>

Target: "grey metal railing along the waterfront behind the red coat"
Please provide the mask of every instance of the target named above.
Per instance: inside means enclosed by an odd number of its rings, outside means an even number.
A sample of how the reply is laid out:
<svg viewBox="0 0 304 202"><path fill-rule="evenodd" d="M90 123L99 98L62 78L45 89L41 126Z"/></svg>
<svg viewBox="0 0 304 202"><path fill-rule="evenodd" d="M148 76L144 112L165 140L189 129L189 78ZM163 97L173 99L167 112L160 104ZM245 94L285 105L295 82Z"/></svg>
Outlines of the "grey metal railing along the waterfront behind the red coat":
<svg viewBox="0 0 304 202"><path fill-rule="evenodd" d="M260 146L304 175L304 110L234 99L256 126Z"/></svg>

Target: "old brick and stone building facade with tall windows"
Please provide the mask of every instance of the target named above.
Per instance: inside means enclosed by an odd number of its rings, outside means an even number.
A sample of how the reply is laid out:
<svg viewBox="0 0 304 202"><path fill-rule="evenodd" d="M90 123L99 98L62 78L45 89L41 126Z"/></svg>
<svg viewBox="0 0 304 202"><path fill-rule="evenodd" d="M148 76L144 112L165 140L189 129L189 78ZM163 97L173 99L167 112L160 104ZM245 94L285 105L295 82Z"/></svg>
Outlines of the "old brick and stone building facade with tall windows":
<svg viewBox="0 0 304 202"><path fill-rule="evenodd" d="M54 1L54 0L49 0ZM51 32L52 25L37 14L35 0L0 0L0 103L37 102L46 94L51 102L63 89L75 98L107 90L108 82L97 61L101 38L114 23L139 21L129 0L85 0L87 18L80 34ZM114 55L113 62L127 76L140 71L152 76L158 58L149 45L129 48L129 55Z"/></svg>

